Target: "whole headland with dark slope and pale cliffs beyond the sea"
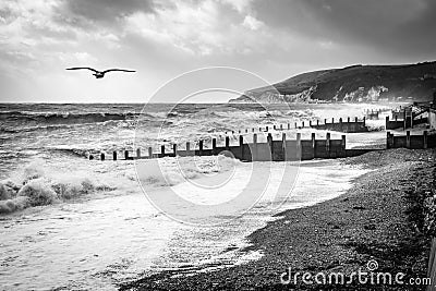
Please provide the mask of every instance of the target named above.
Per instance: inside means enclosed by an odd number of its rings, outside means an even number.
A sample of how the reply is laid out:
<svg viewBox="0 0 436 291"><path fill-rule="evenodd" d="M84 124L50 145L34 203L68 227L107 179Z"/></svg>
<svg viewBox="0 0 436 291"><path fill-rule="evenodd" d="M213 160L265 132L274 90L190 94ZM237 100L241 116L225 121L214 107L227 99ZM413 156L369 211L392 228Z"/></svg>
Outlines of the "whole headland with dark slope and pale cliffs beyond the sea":
<svg viewBox="0 0 436 291"><path fill-rule="evenodd" d="M250 89L230 102L427 101L436 90L436 62L351 65L308 72Z"/></svg>

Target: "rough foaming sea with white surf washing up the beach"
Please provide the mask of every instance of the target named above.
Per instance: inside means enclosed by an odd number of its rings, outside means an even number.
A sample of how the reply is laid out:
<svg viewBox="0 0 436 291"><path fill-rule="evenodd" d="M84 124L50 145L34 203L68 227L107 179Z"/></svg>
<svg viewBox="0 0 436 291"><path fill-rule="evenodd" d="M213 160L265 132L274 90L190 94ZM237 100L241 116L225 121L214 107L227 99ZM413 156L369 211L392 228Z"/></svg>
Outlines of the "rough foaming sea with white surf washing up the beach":
<svg viewBox="0 0 436 291"><path fill-rule="evenodd" d="M213 138L220 144L226 136L238 144L240 132L250 141L253 130L262 142L266 133L259 128L266 126L274 138L281 138L283 131L290 138L296 132L308 138L314 130L295 129L295 123L362 118L363 110L377 107L0 104L0 287L117 290L120 283L164 270L189 275L258 259L262 250L246 251L250 233L282 210L340 195L367 170L338 160L123 160L124 151L136 155L140 148L147 155L149 147L158 153L161 146L171 150L173 144L184 148L190 142L195 147L198 141L210 148ZM365 135L349 135L348 147L383 144L379 122L372 126ZM320 138L326 135L315 132ZM332 133L332 138L340 135ZM112 160L113 151L118 160ZM106 160L100 160L101 153ZM268 179L261 185L254 173ZM287 196L275 201L283 181ZM241 193L253 202L243 211L206 213L202 223L189 219L193 209L232 205ZM166 202L172 208L154 201L166 195L180 197ZM186 217L171 209L185 209Z"/></svg>

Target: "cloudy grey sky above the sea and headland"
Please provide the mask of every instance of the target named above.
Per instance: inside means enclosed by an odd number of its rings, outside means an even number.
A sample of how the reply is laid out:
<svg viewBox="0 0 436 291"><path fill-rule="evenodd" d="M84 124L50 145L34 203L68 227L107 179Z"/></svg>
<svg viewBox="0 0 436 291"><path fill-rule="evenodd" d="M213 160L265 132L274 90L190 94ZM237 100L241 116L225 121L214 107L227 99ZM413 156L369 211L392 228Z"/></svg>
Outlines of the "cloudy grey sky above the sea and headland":
<svg viewBox="0 0 436 291"><path fill-rule="evenodd" d="M1 0L0 101L146 102L207 66L275 83L350 64L431 61L435 15L434 0ZM137 72L96 80L65 70L83 65ZM241 92L263 85L234 83Z"/></svg>

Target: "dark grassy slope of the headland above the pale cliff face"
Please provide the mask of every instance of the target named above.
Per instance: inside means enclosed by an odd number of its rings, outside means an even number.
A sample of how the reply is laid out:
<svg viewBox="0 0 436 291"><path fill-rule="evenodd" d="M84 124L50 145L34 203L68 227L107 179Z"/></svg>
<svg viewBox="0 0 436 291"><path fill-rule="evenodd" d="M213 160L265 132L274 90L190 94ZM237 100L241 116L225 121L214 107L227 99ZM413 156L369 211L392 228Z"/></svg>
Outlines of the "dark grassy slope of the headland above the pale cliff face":
<svg viewBox="0 0 436 291"><path fill-rule="evenodd" d="M312 99L332 100L337 95L342 101L347 94L364 88L384 86L387 92L380 98L402 96L413 97L415 101L429 100L436 89L436 62L403 65L351 65L308 72L274 84L280 94L299 94L316 86ZM276 92L271 87L249 90L256 98L265 92Z"/></svg>

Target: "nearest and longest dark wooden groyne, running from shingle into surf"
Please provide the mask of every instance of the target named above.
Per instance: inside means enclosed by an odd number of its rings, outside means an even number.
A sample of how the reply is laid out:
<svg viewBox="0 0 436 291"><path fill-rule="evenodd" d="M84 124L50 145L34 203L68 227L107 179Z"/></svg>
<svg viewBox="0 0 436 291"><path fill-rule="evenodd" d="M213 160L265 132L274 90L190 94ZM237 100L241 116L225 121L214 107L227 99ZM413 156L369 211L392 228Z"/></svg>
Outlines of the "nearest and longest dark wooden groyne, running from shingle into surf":
<svg viewBox="0 0 436 291"><path fill-rule="evenodd" d="M359 156L373 149L347 149L346 135L340 140L330 138L330 133L327 133L326 138L316 138L315 133L312 133L310 140L302 140L301 133L296 133L295 140L288 140L286 133L282 133L280 140L275 141L271 133L267 135L266 143L257 142L257 134L253 134L253 142L245 143L244 136L239 136L237 145L231 144L230 137L226 136L225 144L218 145L217 140L211 140L211 148L204 146L204 141L198 141L197 147L191 147L187 142L183 149L178 145L172 145L172 150L168 151L162 145L160 151L154 151L153 147L148 147L147 155L142 155L141 148L135 151L124 150L124 153L113 151L111 156L100 154L100 160L134 160L134 159L150 159L164 157L186 157L186 156L217 156L219 154L232 156L243 161L292 161L292 160L311 160L315 158L344 158ZM122 154L122 155L120 155ZM89 157L90 158L90 157ZM92 159L97 157L92 156Z"/></svg>

